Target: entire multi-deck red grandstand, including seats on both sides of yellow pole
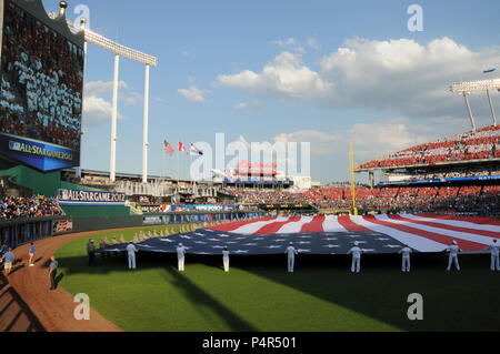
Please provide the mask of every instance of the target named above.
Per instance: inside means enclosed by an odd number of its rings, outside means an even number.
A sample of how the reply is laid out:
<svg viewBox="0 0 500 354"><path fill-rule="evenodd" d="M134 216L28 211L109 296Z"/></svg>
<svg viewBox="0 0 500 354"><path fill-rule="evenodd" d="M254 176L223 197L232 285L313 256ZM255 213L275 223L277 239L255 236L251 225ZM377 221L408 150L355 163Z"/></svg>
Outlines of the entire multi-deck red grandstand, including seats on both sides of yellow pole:
<svg viewBox="0 0 500 354"><path fill-rule="evenodd" d="M500 128L487 127L369 161L354 169L368 172L370 185L356 186L361 213L500 213ZM374 184L374 171L382 181ZM238 203L273 206L280 212L308 208L319 213L352 212L348 185L302 191L227 188Z"/></svg>

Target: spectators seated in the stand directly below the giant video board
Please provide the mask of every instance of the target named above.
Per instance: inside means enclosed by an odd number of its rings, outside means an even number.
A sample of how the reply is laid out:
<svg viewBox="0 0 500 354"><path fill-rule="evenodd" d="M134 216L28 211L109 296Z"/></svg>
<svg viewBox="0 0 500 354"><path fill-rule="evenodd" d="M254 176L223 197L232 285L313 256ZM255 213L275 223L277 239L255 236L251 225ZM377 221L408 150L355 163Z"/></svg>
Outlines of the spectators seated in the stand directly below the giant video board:
<svg viewBox="0 0 500 354"><path fill-rule="evenodd" d="M31 219L61 215L56 199L43 195L32 198L0 198L0 220Z"/></svg>

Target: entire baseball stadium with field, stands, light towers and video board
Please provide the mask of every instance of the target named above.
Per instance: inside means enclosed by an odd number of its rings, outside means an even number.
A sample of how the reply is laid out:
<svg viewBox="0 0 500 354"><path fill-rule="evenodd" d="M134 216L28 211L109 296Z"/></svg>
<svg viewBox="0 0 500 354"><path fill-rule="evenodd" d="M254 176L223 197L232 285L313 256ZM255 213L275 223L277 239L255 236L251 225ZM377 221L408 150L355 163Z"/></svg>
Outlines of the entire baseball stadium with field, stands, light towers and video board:
<svg viewBox="0 0 500 354"><path fill-rule="evenodd" d="M469 131L357 163L352 144L349 182L252 161L210 181L150 175L158 59L59 6L0 0L1 331L500 328L500 79L442 83ZM81 168L88 45L114 55L109 171ZM142 174L116 170L120 57L146 67ZM471 94L489 99L486 127ZM416 293L423 321L409 320Z"/></svg>

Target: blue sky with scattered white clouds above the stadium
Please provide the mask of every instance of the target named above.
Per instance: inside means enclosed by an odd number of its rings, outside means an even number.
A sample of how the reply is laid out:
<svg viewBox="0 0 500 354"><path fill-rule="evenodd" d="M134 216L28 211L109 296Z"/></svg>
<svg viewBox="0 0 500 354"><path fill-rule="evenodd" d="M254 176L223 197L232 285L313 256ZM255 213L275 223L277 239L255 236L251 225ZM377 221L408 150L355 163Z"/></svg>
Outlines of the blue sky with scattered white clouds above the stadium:
<svg viewBox="0 0 500 354"><path fill-rule="evenodd" d="M310 141L312 179L346 181L351 141L362 163L469 130L449 85L500 69L497 0L68 2L67 18L87 4L92 30L159 58L149 130L149 173L158 175L177 176L164 139L189 145L226 133L227 142ZM423 9L422 32L407 28L412 3ZM84 169L109 171L112 64L89 47ZM120 172L141 172L143 71L120 61ZM492 98L500 112L500 93ZM489 124L486 98L471 103L478 125ZM181 178L188 168L183 156Z"/></svg>

